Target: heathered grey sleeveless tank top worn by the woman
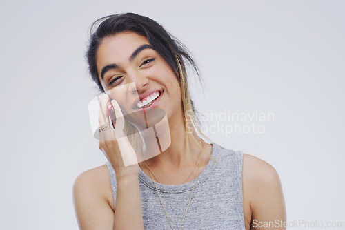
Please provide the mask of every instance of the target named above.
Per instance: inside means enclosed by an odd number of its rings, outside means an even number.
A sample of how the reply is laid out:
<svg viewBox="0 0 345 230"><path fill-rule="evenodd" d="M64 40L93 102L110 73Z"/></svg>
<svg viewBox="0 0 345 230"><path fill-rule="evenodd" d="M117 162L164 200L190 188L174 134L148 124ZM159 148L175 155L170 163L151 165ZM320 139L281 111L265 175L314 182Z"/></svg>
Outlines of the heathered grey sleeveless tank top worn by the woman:
<svg viewBox="0 0 345 230"><path fill-rule="evenodd" d="M212 144L212 154L218 163L209 160L204 171L195 180L182 185L164 185L156 182L161 202L174 229L184 218L193 187L193 198L181 229L245 229L242 197L242 151L225 149ZM110 172L116 209L117 182L115 171ZM154 182L139 167L139 187L144 228L148 230L171 229L157 195Z"/></svg>

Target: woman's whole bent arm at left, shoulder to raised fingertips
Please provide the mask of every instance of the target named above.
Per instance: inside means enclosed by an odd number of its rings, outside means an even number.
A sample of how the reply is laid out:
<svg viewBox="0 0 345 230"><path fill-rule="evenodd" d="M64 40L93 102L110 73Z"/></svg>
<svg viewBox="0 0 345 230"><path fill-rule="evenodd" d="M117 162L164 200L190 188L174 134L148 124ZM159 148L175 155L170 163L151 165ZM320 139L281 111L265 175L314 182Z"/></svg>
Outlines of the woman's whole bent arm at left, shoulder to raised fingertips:
<svg viewBox="0 0 345 230"><path fill-rule="evenodd" d="M110 109L111 108L111 109ZM99 149L110 161L117 178L116 211L111 209L110 202L104 195L106 185L111 185L105 174L89 170L81 174L74 185L75 211L79 227L82 230L137 230L144 229L141 213L139 189L139 165L134 149L124 132L124 116L119 104L108 94L101 96L99 124L109 124L110 110L114 109L115 129L99 131ZM105 114L105 116L103 116ZM103 185L103 186L102 186ZM109 189L108 189L109 190ZM112 197L112 195L110 196Z"/></svg>

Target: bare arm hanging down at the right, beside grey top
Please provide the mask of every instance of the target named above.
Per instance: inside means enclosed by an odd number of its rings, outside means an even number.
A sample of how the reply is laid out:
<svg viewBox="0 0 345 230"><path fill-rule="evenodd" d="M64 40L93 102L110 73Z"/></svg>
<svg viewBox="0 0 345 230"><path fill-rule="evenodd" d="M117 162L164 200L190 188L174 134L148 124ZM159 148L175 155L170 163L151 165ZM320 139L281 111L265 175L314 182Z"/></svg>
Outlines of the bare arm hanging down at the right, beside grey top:
<svg viewBox="0 0 345 230"><path fill-rule="evenodd" d="M249 204L246 227L250 224L250 229L286 229L284 196L275 168L264 160L244 154L243 193Z"/></svg>

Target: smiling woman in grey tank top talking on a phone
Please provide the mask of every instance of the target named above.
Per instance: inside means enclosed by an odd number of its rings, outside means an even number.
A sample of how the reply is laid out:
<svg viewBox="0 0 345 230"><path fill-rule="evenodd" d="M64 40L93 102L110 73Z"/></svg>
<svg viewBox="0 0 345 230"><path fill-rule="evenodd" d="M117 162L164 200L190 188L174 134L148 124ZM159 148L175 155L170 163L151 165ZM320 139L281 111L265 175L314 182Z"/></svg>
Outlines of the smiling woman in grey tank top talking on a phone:
<svg viewBox="0 0 345 230"><path fill-rule="evenodd" d="M99 131L99 147L109 162L75 181L80 229L284 229L278 224L286 213L275 169L196 134L184 61L197 67L184 46L137 14L112 15L94 25L87 53L92 79L101 92L135 85L128 92L139 96L139 109L165 112L170 143L159 154L126 165L124 158L137 154L124 132L130 129L119 122L121 113L129 112L123 101L109 103L103 96L102 109L115 109L117 130ZM154 93L155 102L143 100ZM145 135L141 138L145 143Z"/></svg>

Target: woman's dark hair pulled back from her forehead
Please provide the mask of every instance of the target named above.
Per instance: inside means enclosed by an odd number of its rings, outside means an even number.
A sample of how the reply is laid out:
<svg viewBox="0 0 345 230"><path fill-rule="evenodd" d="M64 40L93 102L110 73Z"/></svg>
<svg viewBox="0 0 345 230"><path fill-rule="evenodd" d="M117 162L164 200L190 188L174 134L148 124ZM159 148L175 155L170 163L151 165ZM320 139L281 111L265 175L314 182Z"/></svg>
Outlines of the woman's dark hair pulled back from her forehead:
<svg viewBox="0 0 345 230"><path fill-rule="evenodd" d="M93 30L95 30L95 32L92 32ZM159 23L148 17L134 13L114 14L97 19L92 23L90 29L90 43L88 45L88 51L86 52L92 80L97 83L101 92L104 92L104 90L99 81L96 62L99 44L102 39L125 31L132 31L139 35L146 36L153 48L155 48L168 63L172 71L176 73L180 83L182 80L180 78L183 76L179 73L179 65L181 65L181 72L186 76L186 66L184 65L182 57L188 61L188 64L193 67L199 76L199 68L190 57L190 54L188 54L188 49L178 39L167 32L163 26L159 25Z"/></svg>

